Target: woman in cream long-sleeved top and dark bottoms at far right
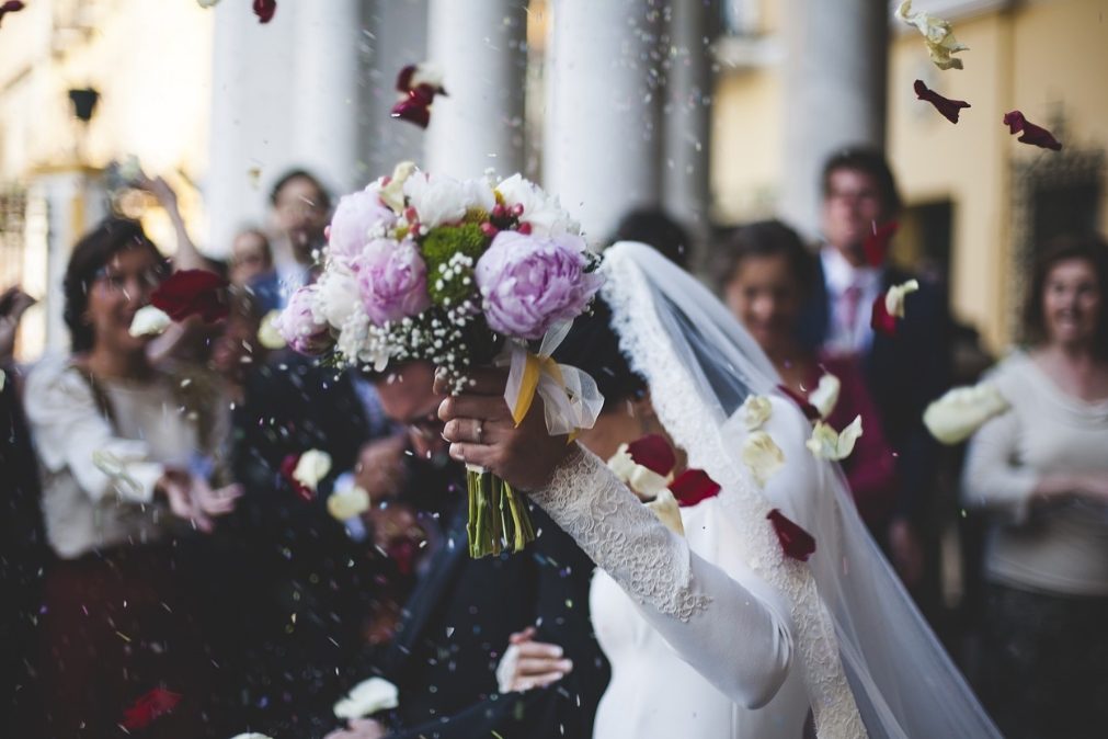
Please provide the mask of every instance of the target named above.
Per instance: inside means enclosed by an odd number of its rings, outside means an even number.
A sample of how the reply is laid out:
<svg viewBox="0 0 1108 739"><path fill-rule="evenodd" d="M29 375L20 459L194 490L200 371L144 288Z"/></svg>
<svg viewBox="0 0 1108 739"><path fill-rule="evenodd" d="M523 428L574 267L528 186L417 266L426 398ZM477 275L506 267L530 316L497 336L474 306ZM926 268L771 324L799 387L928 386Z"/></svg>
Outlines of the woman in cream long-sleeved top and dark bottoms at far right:
<svg viewBox="0 0 1108 739"><path fill-rule="evenodd" d="M1008 737L1108 726L1108 245L1064 237L1030 284L1027 348L993 371L1010 409L970 445L964 496L993 520L986 661Z"/></svg>

